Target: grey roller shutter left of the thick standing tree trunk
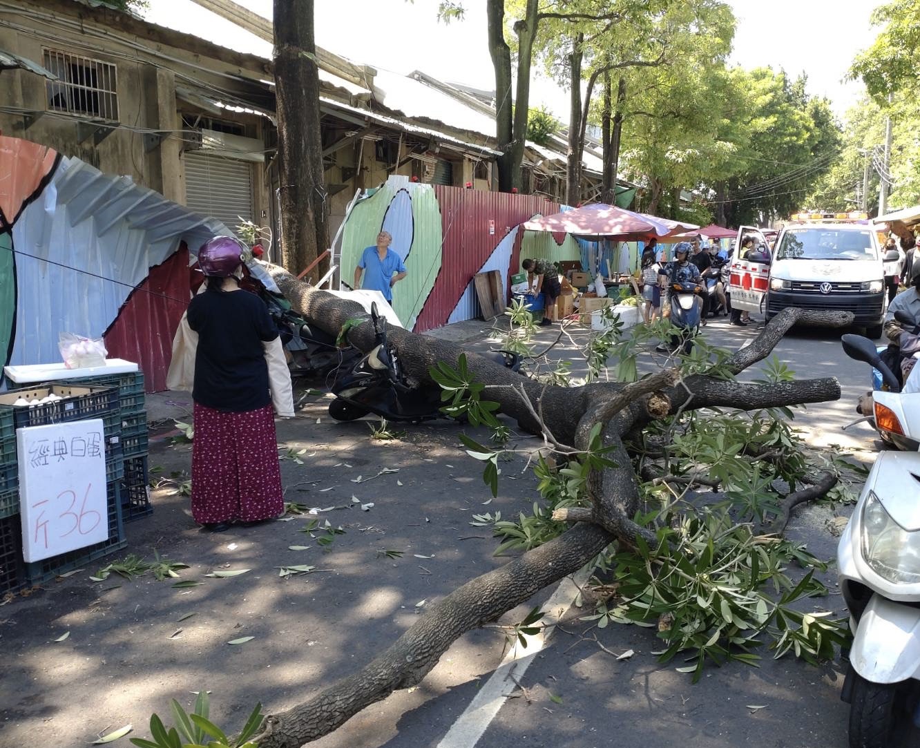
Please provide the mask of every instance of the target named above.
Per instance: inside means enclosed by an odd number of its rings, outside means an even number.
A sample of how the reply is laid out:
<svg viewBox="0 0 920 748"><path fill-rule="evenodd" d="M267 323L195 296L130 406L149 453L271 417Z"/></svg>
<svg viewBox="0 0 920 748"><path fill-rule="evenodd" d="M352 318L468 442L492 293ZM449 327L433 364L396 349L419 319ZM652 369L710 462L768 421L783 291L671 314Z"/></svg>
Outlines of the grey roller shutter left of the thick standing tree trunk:
<svg viewBox="0 0 920 748"><path fill-rule="evenodd" d="M252 165L235 158L186 151L186 205L236 231L239 216L254 221Z"/></svg>

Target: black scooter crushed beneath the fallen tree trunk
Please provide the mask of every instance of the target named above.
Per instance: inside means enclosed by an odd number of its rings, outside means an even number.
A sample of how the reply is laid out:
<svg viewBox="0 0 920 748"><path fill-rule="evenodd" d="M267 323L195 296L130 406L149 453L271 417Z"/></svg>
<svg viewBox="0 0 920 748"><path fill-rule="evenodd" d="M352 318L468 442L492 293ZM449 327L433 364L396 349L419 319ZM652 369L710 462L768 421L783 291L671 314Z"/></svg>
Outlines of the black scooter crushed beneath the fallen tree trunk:
<svg viewBox="0 0 920 748"><path fill-rule="evenodd" d="M396 348L386 341L386 320L377 313L376 304L371 305L371 321L374 348L351 370L339 370L329 415L335 420L355 420L374 413L386 420L410 423L446 418L441 412L441 388L414 383L403 373ZM491 356L512 371L520 368L516 353L495 351Z"/></svg>

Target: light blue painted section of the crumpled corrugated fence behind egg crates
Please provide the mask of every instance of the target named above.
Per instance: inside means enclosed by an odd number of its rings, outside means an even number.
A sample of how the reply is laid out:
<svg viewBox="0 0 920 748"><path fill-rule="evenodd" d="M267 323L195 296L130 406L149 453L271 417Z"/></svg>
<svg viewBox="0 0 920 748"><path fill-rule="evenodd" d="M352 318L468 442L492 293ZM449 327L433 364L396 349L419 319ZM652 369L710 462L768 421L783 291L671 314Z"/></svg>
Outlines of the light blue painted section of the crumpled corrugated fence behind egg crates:
<svg viewBox="0 0 920 748"><path fill-rule="evenodd" d="M9 363L58 361L61 332L100 337L151 268L172 256L180 242L200 247L214 234L226 233L224 224L130 178L63 158L13 225L18 293ZM159 339L161 327L139 316L132 333L137 339ZM148 368L165 370L167 364L156 360Z"/></svg>

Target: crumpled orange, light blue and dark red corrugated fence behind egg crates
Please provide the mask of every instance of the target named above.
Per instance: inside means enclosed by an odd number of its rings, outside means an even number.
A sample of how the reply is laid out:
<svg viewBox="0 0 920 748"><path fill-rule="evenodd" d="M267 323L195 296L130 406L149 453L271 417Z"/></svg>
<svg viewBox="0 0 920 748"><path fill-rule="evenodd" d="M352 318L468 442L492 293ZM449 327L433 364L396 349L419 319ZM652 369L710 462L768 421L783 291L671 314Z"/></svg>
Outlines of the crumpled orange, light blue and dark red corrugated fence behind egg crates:
<svg viewBox="0 0 920 748"><path fill-rule="evenodd" d="M0 351L6 363L61 360L58 336L104 337L166 386L188 305L189 253L223 224L130 178L0 136Z"/></svg>

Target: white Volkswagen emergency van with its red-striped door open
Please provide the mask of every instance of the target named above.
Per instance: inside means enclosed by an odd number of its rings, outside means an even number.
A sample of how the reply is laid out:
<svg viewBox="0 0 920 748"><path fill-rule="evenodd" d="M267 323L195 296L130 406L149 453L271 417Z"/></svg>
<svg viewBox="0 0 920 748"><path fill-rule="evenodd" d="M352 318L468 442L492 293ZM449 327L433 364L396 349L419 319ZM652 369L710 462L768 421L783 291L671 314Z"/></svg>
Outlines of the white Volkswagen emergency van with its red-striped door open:
<svg viewBox="0 0 920 748"><path fill-rule="evenodd" d="M744 236L754 251L739 257ZM759 236L758 236L759 235ZM845 213L793 216L771 252L759 229L742 226L730 268L731 306L767 320L787 306L852 312L871 339L881 336L885 279L879 236Z"/></svg>

